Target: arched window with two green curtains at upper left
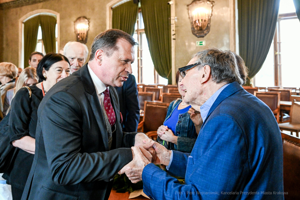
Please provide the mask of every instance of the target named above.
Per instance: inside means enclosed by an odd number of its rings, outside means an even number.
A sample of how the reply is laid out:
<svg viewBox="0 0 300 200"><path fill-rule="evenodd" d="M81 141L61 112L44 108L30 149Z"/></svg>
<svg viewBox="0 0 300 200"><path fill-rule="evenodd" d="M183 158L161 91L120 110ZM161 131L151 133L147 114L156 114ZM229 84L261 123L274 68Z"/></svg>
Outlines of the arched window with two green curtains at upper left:
<svg viewBox="0 0 300 200"><path fill-rule="evenodd" d="M19 67L28 67L29 55L59 49L59 13L35 10L19 19Z"/></svg>

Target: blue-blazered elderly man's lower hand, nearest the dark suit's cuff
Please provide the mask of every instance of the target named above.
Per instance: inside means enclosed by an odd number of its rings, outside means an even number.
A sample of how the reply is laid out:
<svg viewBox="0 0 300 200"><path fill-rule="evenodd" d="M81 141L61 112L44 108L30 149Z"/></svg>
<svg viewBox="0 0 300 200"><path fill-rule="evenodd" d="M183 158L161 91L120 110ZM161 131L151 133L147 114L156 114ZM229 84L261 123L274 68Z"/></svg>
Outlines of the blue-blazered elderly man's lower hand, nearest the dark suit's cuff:
<svg viewBox="0 0 300 200"><path fill-rule="evenodd" d="M125 165L118 173L126 174L126 176L131 180L132 183L137 183L142 181L143 169L146 165L150 163L149 160L143 155L141 149L145 151L151 148L154 145L154 142L150 142L139 147L131 147L134 152L134 159ZM148 151L146 151L148 152Z"/></svg>

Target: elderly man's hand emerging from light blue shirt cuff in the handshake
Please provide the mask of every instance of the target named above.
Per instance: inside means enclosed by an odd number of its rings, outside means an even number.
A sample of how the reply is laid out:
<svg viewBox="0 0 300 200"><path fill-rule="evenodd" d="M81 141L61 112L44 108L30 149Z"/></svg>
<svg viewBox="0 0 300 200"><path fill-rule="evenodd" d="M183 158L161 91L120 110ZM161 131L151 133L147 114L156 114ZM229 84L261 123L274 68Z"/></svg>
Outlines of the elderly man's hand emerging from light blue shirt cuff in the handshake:
<svg viewBox="0 0 300 200"><path fill-rule="evenodd" d="M154 141L152 139L145 139L143 142L148 144L149 142L154 142ZM167 150L163 145L157 142L154 142L153 148L155 149L156 155L155 156L152 155L154 160L154 162L152 163L156 165L163 164L165 166L168 166L171 159L171 151Z"/></svg>

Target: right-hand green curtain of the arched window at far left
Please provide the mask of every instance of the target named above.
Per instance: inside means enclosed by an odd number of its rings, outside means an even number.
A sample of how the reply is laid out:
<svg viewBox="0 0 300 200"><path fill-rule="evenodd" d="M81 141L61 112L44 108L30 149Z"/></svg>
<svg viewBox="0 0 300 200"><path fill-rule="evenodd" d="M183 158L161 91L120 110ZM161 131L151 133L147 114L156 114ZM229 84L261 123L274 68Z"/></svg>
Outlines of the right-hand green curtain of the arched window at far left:
<svg viewBox="0 0 300 200"><path fill-rule="evenodd" d="M55 26L56 19L50 15L40 15L42 38L46 53L56 52Z"/></svg>

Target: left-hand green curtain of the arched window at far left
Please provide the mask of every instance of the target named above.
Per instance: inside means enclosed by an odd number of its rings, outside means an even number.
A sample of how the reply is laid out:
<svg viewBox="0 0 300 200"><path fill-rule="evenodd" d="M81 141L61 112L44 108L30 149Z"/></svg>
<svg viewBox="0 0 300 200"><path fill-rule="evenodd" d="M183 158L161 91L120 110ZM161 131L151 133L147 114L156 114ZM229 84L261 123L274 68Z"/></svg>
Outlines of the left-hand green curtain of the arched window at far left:
<svg viewBox="0 0 300 200"><path fill-rule="evenodd" d="M35 51L38 38L39 16L24 22L24 68L28 67L30 54Z"/></svg>

